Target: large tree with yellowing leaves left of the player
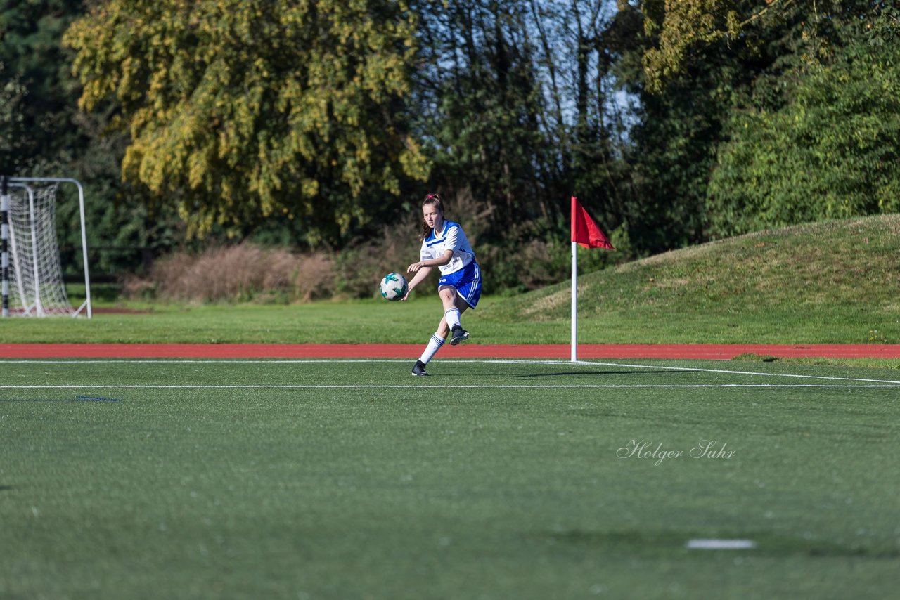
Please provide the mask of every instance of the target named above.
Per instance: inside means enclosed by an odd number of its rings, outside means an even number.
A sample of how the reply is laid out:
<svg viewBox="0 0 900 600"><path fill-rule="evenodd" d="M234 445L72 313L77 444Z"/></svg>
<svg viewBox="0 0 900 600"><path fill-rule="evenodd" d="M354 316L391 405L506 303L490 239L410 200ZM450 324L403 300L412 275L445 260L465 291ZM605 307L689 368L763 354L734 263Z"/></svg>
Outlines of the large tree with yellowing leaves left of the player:
<svg viewBox="0 0 900 600"><path fill-rule="evenodd" d="M428 175L404 121L414 28L388 0L109 0L65 40L81 106L130 135L125 181L192 233L294 219L315 244Z"/></svg>

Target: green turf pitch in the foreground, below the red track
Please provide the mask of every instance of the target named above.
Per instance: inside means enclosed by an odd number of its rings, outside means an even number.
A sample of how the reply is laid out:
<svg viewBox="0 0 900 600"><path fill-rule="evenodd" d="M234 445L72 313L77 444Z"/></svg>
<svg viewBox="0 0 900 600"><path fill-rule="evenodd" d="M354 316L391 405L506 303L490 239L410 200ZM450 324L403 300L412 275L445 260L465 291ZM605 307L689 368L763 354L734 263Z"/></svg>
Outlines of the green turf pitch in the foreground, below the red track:
<svg viewBox="0 0 900 600"><path fill-rule="evenodd" d="M896 593L896 370L429 371L3 361L0 597Z"/></svg>

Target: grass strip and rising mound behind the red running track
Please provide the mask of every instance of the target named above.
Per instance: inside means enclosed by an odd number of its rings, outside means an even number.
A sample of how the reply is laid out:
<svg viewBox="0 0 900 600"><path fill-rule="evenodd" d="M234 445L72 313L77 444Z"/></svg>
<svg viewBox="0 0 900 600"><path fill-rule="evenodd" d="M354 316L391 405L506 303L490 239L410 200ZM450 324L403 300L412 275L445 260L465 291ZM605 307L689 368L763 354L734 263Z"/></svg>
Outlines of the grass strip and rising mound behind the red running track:
<svg viewBox="0 0 900 600"><path fill-rule="evenodd" d="M579 288L583 344L898 344L900 215L690 247L582 274ZM470 343L567 344L570 294L564 282L513 298L485 297L464 317ZM3 319L0 342L419 344L440 318L433 295L402 303L94 306L91 321Z"/></svg>

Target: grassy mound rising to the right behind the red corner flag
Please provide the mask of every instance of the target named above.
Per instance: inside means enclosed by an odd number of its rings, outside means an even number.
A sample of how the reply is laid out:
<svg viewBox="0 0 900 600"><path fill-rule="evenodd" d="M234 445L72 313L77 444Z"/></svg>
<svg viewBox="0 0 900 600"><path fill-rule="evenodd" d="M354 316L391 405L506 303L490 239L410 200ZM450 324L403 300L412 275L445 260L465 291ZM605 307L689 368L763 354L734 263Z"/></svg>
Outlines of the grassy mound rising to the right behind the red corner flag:
<svg viewBox="0 0 900 600"><path fill-rule="evenodd" d="M570 299L566 282L483 317L544 330L568 324ZM900 215L815 223L581 275L579 340L900 343L898 299Z"/></svg>

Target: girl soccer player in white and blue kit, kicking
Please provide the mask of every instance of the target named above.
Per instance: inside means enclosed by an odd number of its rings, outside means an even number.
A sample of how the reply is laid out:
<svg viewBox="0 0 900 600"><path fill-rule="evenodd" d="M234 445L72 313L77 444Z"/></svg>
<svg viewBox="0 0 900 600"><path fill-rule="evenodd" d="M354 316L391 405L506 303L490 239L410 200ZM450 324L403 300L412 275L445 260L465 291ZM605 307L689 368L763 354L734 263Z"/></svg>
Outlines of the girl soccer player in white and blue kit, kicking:
<svg viewBox="0 0 900 600"><path fill-rule="evenodd" d="M441 275L437 280L437 294L444 305L444 316L428 340L425 352L412 367L413 375L428 375L425 365L445 344L447 335L450 345L457 345L469 336L460 324L460 315L470 307L474 309L482 296L482 270L475 261L472 246L460 224L444 218L444 201L437 193L429 193L422 202L421 238L419 262L407 269L415 275L403 300L437 267Z"/></svg>

